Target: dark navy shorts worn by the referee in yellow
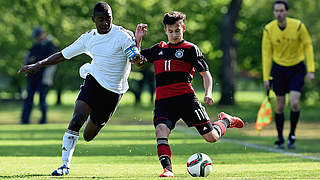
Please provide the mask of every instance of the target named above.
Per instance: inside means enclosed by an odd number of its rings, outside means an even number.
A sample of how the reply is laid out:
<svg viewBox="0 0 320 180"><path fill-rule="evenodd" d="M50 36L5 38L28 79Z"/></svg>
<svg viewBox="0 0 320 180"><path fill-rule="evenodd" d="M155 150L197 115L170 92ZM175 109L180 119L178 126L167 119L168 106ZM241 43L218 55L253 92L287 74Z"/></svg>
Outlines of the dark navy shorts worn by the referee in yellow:
<svg viewBox="0 0 320 180"><path fill-rule="evenodd" d="M290 91L301 92L305 75L306 66L303 62L289 67L273 63L271 69L273 91L277 96L284 96Z"/></svg>

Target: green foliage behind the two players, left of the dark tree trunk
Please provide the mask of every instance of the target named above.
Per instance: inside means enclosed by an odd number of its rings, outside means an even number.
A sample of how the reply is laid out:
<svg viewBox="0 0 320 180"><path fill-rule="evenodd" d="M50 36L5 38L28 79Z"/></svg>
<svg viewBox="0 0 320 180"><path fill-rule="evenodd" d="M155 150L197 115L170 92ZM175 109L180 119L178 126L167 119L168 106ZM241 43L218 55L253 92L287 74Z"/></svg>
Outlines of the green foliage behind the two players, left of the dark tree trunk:
<svg viewBox="0 0 320 180"><path fill-rule="evenodd" d="M163 33L163 14L172 10L187 13L187 32L185 38L203 49L208 56L209 64L219 63L214 59L221 57L219 50L219 36L210 35L219 29L222 16L220 8L227 1L149 1L149 0L121 0L110 1L113 9L113 22L132 31L138 23L149 25L149 35L144 39L143 47L150 47L159 41L166 41ZM82 33L95 28L91 21L92 1L54 1L54 0L19 0L1 1L0 10L4 13L0 17L3 26L0 27L0 74L10 76L13 91L19 91L24 83L24 77L16 72L23 65L24 54L32 45L30 37L32 29L41 25L51 34L54 43L62 50L71 44ZM153 8L157 7L157 8ZM214 7L214 8L212 8ZM203 14L201 12L209 12ZM208 36L209 34L209 36ZM81 82L78 68L90 59L82 55L71 61L58 65L55 87L58 89L78 89ZM210 65L212 68L217 67ZM216 68L217 69L217 68Z"/></svg>

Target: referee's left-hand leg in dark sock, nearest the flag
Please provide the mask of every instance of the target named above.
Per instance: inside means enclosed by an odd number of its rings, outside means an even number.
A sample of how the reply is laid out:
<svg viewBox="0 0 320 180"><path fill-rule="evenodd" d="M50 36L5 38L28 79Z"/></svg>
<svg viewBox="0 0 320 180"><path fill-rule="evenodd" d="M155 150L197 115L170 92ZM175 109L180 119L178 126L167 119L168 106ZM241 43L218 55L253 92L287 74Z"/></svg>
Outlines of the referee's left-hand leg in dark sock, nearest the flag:
<svg viewBox="0 0 320 180"><path fill-rule="evenodd" d="M286 103L285 96L277 96L275 109L275 122L278 132L278 139L274 142L276 148L284 149L283 127L284 127L284 107Z"/></svg>

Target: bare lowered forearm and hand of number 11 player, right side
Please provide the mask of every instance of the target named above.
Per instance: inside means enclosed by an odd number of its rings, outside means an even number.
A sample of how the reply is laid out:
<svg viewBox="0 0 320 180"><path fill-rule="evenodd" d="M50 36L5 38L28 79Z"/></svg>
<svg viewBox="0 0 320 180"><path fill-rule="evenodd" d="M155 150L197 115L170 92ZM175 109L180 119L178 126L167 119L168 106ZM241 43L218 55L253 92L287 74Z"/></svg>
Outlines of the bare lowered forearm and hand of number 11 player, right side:
<svg viewBox="0 0 320 180"><path fill-rule="evenodd" d="M199 72L202 76L203 86L205 89L204 102L208 105L212 105L214 100L212 98L212 76L210 71Z"/></svg>

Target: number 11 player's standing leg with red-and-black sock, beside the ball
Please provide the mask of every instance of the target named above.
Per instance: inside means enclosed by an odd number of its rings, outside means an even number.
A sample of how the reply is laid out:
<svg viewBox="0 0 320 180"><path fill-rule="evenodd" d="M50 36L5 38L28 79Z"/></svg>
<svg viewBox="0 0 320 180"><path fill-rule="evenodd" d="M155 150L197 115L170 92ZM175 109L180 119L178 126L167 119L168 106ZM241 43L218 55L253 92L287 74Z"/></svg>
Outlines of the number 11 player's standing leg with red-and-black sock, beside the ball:
<svg viewBox="0 0 320 180"><path fill-rule="evenodd" d="M163 123L156 126L158 157L164 169L159 177L174 177L171 164L171 149L168 143L170 132L167 125Z"/></svg>

